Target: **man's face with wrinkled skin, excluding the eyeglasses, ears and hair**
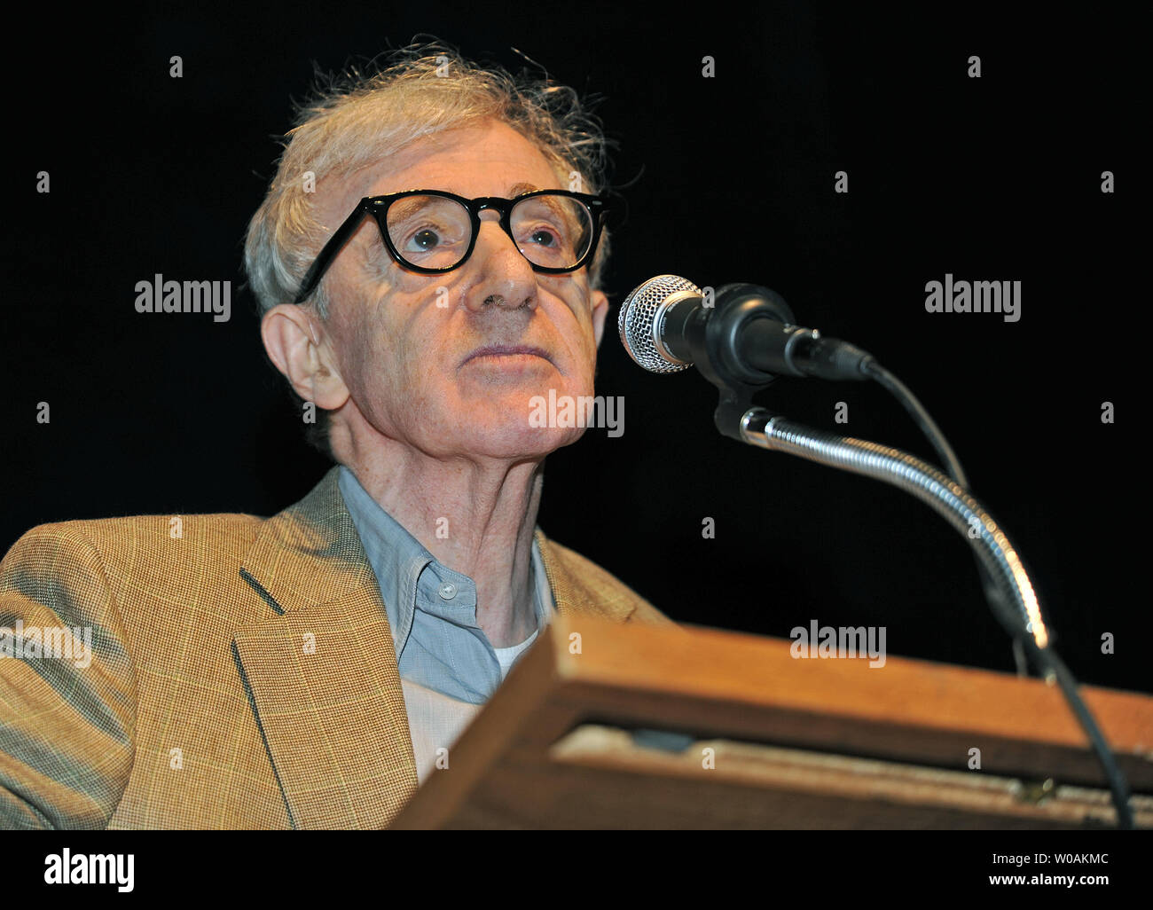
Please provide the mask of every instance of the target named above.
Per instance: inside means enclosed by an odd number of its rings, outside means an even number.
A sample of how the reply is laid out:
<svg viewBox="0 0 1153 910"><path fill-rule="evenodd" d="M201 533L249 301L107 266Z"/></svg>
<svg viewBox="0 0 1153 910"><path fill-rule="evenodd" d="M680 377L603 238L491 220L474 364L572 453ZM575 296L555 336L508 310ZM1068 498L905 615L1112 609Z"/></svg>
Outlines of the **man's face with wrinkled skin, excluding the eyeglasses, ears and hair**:
<svg viewBox="0 0 1153 910"><path fill-rule="evenodd" d="M361 196L443 189L475 198L565 189L548 159L511 127L487 121L408 145L323 201L339 224ZM330 331L351 398L372 430L435 457L541 457L580 428L529 426L530 399L593 394L608 300L588 269L533 271L493 211L481 213L468 261L443 274L401 268L366 218L327 276ZM527 346L538 354L481 354ZM375 438L351 415L356 433ZM362 443L364 444L364 443Z"/></svg>

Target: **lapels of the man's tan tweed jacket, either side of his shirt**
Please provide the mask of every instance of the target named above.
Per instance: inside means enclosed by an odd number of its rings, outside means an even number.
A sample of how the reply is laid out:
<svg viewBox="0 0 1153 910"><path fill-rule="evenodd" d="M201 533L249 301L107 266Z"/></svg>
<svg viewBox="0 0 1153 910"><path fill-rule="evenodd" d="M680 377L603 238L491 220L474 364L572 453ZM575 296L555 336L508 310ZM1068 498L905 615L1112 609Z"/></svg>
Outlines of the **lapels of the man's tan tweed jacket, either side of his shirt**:
<svg viewBox="0 0 1153 910"><path fill-rule="evenodd" d="M240 576L269 618L236 631L233 656L292 826L383 828L416 792L416 761L387 612L338 472L262 524ZM632 599L586 581L535 534L559 614L628 619Z"/></svg>

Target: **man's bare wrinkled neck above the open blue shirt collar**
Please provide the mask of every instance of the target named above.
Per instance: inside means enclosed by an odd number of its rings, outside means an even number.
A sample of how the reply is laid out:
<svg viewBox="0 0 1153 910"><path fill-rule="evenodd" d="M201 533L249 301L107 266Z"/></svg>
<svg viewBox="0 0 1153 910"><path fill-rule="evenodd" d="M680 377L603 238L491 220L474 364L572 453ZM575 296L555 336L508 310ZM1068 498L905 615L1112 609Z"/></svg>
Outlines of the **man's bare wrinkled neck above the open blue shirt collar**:
<svg viewBox="0 0 1153 910"><path fill-rule="evenodd" d="M533 532L544 461L442 460L398 450L344 461L442 565L476 584L476 622L495 648L536 630Z"/></svg>

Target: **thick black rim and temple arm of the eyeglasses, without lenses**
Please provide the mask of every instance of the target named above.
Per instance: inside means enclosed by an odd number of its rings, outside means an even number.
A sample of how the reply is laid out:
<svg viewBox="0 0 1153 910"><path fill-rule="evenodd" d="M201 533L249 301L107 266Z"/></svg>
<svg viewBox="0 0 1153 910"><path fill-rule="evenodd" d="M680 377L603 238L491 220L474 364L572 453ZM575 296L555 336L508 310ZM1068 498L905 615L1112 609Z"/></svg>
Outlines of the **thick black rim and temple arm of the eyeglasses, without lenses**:
<svg viewBox="0 0 1153 910"><path fill-rule="evenodd" d="M575 265L564 269L549 265L537 265L535 262L529 260L528 256L525 256L523 250L521 250L520 245L517 242L517 238L513 236L513 206L534 196L547 195L566 196L582 202L593 219L593 233L589 238L588 249ZM440 269L416 265L401 256L399 250L397 250L397 247L392 242L392 238L389 234L389 209L393 203L409 196L439 196L442 198L452 200L464 206L464 209L468 212L469 218L472 219L473 233L468 240L468 249L465 250L465 255L455 265ZM377 227L380 230L380 239L384 241L384 246L389 250L389 255L392 256L393 261L400 268L410 269L412 271L420 272L421 274L443 274L445 272L454 271L468 262L468 258L473 255L473 249L476 247L476 238L481 233L481 212L490 209L500 213L499 224L502 230L508 235L508 239L512 240L513 245L517 247L517 251L520 253L521 256L525 256L526 262L533 266L533 271L542 272L544 274L567 274L568 272L575 272L579 269L582 269L596 253L596 246L601 240L601 231L604 226L604 216L609 211L609 201L604 196L594 196L588 193L575 193L571 189L534 189L529 193L521 193L519 196L513 196L512 198L506 198L504 196L477 196L475 200L469 200L465 196L458 196L455 193L449 193L444 189L406 189L400 193L389 193L384 196L364 196L356 203L356 208L353 210L352 215L345 219L345 223L337 228L336 233L333 233L331 238L329 238L329 242L321 248L321 251L316 255L312 264L304 273L304 278L300 285L300 291L296 293L296 299L293 303L296 304L304 302L316 289L317 285L321 284L321 279L324 277L325 271L327 271L329 266L332 265L333 260L336 260L345 243L348 242L348 239L356 232L363 219L368 216L372 216Z"/></svg>

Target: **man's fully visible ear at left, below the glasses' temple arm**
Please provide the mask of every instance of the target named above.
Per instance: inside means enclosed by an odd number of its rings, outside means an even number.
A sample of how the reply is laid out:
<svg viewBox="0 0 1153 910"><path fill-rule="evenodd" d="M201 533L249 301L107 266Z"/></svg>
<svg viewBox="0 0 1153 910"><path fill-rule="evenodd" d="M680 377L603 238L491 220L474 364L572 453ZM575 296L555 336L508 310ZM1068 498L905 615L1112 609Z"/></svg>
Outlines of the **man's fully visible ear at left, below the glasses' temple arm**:
<svg viewBox="0 0 1153 910"><path fill-rule="evenodd" d="M348 400L331 337L304 307L280 303L270 309L261 319L261 339L269 359L306 401L336 411Z"/></svg>

